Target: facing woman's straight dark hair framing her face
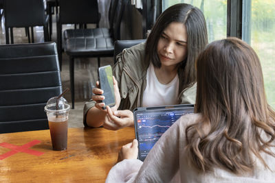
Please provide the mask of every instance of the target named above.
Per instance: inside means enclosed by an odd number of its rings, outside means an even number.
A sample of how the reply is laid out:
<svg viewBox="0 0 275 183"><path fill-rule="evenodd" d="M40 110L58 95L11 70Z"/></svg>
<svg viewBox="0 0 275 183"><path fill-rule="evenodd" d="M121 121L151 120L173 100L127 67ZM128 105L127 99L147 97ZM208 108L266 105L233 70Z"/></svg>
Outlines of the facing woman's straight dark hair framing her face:
<svg viewBox="0 0 275 183"><path fill-rule="evenodd" d="M187 30L187 57L179 63L178 74L184 78L180 90L192 86L196 82L195 59L208 44L206 21L199 8L186 3L170 6L158 17L146 41L146 55L157 68L161 62L157 56L157 43L162 32L170 23L183 23Z"/></svg>

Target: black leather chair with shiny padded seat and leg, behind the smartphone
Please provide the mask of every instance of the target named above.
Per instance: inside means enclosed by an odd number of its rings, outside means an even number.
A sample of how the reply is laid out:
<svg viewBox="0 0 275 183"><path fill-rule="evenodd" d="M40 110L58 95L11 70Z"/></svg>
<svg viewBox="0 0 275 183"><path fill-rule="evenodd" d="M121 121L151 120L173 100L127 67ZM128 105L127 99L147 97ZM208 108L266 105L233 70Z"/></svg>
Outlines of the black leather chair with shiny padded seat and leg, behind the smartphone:
<svg viewBox="0 0 275 183"><path fill-rule="evenodd" d="M112 57L113 42L120 39L120 23L124 13L125 3L128 0L118 0L113 18L113 37L110 38L67 38L64 49L69 56L69 75L72 93L72 108L74 109L74 58L97 57L100 66L100 57Z"/></svg>

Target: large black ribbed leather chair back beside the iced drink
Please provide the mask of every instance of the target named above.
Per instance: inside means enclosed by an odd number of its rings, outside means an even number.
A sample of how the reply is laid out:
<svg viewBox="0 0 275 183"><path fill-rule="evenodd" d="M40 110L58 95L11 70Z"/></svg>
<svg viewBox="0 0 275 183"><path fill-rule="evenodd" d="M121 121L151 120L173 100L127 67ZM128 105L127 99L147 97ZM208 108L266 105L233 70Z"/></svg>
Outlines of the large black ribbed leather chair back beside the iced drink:
<svg viewBox="0 0 275 183"><path fill-rule="evenodd" d="M56 43L0 46L0 133L48 129L44 107L61 94Z"/></svg>

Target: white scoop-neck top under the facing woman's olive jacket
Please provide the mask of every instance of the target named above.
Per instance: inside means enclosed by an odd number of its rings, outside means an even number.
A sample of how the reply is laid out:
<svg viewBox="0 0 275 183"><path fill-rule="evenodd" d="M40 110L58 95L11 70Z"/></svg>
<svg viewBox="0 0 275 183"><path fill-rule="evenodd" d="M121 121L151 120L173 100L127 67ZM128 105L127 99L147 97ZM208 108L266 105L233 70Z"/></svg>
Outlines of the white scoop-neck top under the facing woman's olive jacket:
<svg viewBox="0 0 275 183"><path fill-rule="evenodd" d="M152 63L148 66L146 74L146 88L142 97L142 107L156 107L178 104L179 76L168 84L161 84L155 75Z"/></svg>

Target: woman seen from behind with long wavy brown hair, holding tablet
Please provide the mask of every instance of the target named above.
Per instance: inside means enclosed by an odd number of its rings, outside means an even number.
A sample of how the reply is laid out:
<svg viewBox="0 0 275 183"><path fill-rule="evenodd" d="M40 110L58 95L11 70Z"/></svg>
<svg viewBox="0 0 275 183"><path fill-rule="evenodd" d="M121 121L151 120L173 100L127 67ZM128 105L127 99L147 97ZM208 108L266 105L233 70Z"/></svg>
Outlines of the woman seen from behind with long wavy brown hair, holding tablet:
<svg viewBox="0 0 275 183"><path fill-rule="evenodd" d="M258 56L238 38L217 40L197 59L195 114L174 123L143 164L136 140L122 147L107 181L169 182L179 171L181 182L274 182L274 139Z"/></svg>

